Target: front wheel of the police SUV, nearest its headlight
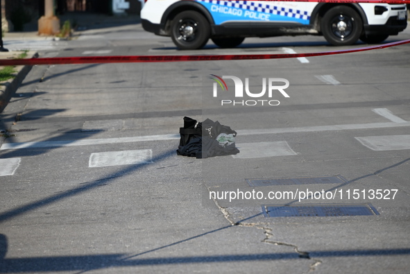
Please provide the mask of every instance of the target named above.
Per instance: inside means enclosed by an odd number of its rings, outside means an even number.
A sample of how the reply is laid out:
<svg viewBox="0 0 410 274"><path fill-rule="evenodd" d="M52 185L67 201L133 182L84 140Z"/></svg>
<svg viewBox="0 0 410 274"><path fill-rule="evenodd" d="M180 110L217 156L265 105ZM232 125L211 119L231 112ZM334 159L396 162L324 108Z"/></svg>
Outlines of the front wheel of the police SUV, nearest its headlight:
<svg viewBox="0 0 410 274"><path fill-rule="evenodd" d="M327 10L321 22L323 36L334 46L355 44L362 30L360 15L348 6L336 6Z"/></svg>

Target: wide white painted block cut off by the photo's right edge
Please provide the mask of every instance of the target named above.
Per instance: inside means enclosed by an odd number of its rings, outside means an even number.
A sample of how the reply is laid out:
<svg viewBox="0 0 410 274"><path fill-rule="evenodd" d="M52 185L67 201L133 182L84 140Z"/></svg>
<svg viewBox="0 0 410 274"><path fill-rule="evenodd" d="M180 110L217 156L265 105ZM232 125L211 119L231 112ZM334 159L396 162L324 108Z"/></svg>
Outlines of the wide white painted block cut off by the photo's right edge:
<svg viewBox="0 0 410 274"><path fill-rule="evenodd" d="M355 137L372 151L401 151L410 149L410 135Z"/></svg>

